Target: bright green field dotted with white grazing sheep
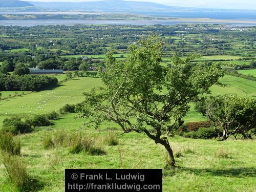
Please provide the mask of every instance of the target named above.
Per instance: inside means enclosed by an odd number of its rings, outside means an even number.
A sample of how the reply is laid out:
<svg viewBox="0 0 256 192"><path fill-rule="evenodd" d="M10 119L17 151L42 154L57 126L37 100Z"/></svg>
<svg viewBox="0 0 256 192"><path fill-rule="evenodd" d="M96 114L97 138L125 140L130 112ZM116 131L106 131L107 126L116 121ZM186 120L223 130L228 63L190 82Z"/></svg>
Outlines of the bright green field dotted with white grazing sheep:
<svg viewBox="0 0 256 192"><path fill-rule="evenodd" d="M73 104L82 101L82 92L99 84L99 78L75 78L62 83L54 90L34 92L1 100L0 116L6 116L7 114L8 116L14 114L40 114L58 110L66 103ZM5 92L2 92L2 94L4 95ZM23 106L24 108L21 108Z"/></svg>

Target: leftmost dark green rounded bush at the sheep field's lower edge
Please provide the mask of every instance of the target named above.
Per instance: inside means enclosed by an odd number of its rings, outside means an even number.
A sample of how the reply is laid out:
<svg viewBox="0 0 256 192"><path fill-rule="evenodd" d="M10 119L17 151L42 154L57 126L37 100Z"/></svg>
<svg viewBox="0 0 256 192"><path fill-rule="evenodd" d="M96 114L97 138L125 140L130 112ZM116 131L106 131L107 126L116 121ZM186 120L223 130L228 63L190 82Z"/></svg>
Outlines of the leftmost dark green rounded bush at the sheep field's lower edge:
<svg viewBox="0 0 256 192"><path fill-rule="evenodd" d="M23 122L18 117L11 117L4 119L2 131L17 135L18 133L30 133L32 129L29 123Z"/></svg>

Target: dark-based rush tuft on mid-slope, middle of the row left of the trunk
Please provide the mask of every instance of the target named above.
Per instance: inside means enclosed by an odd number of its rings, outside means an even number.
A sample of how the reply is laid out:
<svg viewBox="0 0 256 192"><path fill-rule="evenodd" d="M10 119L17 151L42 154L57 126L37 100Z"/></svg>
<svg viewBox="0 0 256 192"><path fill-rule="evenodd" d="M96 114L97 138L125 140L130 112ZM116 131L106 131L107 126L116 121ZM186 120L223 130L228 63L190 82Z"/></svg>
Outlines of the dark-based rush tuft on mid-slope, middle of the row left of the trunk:
<svg viewBox="0 0 256 192"><path fill-rule="evenodd" d="M90 137L79 138L70 150L72 154L84 153L88 155L105 155L106 153L99 147L95 146L94 141Z"/></svg>

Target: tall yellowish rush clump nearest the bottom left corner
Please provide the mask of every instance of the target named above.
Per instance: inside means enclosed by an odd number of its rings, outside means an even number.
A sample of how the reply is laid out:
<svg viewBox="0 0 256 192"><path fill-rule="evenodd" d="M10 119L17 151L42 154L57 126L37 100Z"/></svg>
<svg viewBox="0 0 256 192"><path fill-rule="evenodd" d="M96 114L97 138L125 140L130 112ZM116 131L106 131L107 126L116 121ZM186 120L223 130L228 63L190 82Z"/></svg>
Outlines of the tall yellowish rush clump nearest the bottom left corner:
<svg viewBox="0 0 256 192"><path fill-rule="evenodd" d="M31 190L31 177L27 172L27 165L20 156L11 156L2 153L5 173L8 180L13 183L19 191Z"/></svg>

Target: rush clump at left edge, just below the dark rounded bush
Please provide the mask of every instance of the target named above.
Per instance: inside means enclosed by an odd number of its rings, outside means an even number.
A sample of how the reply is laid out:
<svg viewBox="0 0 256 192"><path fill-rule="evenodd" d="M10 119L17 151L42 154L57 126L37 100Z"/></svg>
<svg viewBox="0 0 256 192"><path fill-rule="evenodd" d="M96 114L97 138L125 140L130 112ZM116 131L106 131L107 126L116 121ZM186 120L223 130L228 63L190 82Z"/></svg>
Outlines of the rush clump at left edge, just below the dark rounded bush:
<svg viewBox="0 0 256 192"><path fill-rule="evenodd" d="M20 140L14 138L11 133L1 134L0 149L10 155L20 155Z"/></svg>

